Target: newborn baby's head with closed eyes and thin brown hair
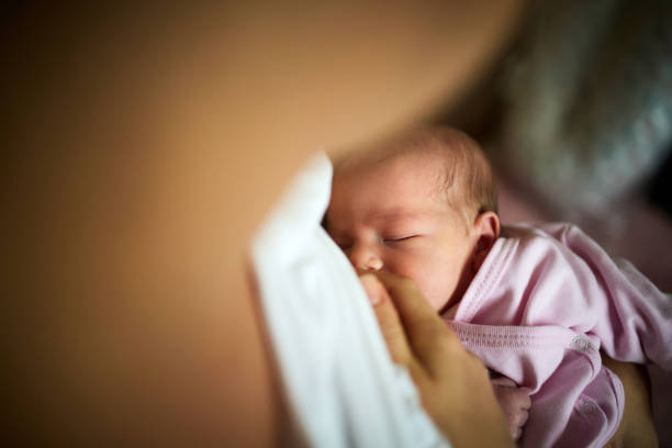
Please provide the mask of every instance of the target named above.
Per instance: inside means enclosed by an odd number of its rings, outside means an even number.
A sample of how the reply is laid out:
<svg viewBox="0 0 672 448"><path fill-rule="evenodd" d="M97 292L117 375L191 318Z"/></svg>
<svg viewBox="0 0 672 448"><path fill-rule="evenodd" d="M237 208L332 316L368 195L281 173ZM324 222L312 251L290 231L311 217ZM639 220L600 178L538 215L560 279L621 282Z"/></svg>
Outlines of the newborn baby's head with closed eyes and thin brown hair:
<svg viewBox="0 0 672 448"><path fill-rule="evenodd" d="M336 166L326 228L355 268L408 277L440 311L499 236L490 164L460 131L414 131Z"/></svg>

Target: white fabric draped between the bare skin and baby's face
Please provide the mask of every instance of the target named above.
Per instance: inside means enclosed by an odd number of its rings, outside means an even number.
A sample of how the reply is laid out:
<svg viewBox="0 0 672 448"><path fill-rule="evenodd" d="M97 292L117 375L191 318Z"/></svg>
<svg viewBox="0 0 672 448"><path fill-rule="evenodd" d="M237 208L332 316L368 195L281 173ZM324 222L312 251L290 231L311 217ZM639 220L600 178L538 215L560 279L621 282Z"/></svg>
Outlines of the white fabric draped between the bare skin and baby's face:
<svg viewBox="0 0 672 448"><path fill-rule="evenodd" d="M392 363L346 257L320 225L332 164L316 156L253 243L253 262L299 436L318 447L446 447Z"/></svg>

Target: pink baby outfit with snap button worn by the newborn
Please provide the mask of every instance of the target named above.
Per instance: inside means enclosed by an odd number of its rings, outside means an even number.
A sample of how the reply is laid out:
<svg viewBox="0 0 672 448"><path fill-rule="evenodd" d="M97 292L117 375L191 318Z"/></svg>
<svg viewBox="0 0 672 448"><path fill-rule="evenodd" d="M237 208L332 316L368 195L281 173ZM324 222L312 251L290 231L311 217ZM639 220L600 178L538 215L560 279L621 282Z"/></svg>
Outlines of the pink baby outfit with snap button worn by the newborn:
<svg viewBox="0 0 672 448"><path fill-rule="evenodd" d="M468 350L531 391L523 447L613 436L624 391L600 349L672 370L672 298L569 224L504 228L445 317Z"/></svg>

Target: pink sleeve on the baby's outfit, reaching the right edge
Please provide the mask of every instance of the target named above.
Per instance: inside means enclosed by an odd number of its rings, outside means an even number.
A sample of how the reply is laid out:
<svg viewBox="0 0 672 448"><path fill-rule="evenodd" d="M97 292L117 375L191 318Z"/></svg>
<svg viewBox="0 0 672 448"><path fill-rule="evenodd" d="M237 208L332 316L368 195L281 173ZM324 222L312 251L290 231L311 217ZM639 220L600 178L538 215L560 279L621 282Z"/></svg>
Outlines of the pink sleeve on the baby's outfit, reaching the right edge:
<svg viewBox="0 0 672 448"><path fill-rule="evenodd" d="M628 261L614 261L579 227L548 224L538 228L580 257L605 291L607 303L600 306L591 331L604 351L621 361L651 361L672 370L672 295L661 292Z"/></svg>

